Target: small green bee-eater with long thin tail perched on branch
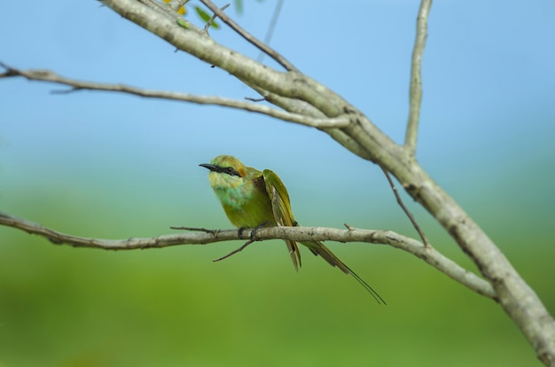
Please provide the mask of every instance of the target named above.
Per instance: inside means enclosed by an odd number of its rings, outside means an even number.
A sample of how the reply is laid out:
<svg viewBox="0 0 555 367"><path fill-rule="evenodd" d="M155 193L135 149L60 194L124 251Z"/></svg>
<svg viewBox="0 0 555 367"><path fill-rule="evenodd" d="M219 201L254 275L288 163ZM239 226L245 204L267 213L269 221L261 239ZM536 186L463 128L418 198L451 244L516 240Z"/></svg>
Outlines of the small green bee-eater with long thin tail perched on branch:
<svg viewBox="0 0 555 367"><path fill-rule="evenodd" d="M265 225L286 227L299 225L293 217L289 194L284 183L270 169L264 169L261 172L258 169L246 167L231 155L219 155L210 163L199 166L210 170L208 174L210 186L234 226L242 229ZM298 269L301 266L299 247L295 241L286 239L285 243L293 266ZM378 303L386 304L370 285L332 254L322 242L308 241L301 242L301 245L309 247L312 254L322 256L326 262L337 266L345 274L351 274Z"/></svg>

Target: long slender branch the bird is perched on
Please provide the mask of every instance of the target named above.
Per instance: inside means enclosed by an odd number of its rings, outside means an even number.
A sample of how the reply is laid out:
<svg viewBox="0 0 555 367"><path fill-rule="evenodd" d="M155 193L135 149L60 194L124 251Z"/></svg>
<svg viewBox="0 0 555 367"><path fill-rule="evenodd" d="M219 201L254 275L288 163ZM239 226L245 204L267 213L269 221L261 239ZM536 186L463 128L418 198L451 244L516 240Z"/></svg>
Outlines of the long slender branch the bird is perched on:
<svg viewBox="0 0 555 367"><path fill-rule="evenodd" d="M34 222L27 221L5 213L0 213L0 225L24 230L27 233L49 239L57 245L99 248L104 250L134 250L161 248L177 245L206 245L209 243L250 238L251 231L244 230L239 238L238 230L189 229L183 233L160 235L152 238L102 239L84 238L51 230ZM365 242L389 245L417 256L435 269L467 286L476 293L496 299L493 287L481 277L460 267L456 262L445 257L432 246L424 246L416 239L408 238L392 230L359 230L349 227L339 230L324 227L269 227L256 231L256 239L291 239L293 241Z"/></svg>

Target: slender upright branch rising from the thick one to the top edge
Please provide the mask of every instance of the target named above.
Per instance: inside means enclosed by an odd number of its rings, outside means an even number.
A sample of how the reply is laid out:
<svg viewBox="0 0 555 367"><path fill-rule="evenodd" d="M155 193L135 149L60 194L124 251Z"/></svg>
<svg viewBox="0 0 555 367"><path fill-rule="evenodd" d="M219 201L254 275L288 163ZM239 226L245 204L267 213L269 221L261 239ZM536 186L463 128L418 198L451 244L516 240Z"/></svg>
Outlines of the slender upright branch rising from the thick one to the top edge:
<svg viewBox="0 0 555 367"><path fill-rule="evenodd" d="M420 106L422 105L422 55L427 37L427 21L432 0L422 0L418 11L417 35L412 50L410 67L410 109L409 122L405 134L404 144L412 155L416 152L418 140L418 123L420 119Z"/></svg>

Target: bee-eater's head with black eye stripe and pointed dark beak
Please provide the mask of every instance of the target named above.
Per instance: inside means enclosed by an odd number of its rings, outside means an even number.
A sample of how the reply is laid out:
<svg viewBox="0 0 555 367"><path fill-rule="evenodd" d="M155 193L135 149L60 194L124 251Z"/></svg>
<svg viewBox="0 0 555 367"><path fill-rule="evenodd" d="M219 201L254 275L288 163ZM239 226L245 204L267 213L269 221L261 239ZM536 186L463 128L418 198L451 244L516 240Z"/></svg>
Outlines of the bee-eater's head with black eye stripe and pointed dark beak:
<svg viewBox="0 0 555 367"><path fill-rule="evenodd" d="M208 181L215 189L236 188L245 182L245 165L231 155L218 155L210 160L210 163L202 163L199 166L210 170Z"/></svg>

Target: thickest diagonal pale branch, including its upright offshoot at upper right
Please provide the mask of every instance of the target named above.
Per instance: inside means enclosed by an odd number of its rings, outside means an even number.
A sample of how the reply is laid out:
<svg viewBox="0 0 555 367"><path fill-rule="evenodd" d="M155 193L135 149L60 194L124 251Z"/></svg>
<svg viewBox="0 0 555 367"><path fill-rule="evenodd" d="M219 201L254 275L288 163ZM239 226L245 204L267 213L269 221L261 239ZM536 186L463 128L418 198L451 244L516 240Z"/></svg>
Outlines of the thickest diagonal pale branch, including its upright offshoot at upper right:
<svg viewBox="0 0 555 367"><path fill-rule="evenodd" d="M414 159L421 84L419 80L413 82L413 76L420 76L421 52L426 40L426 32L423 33L422 29L426 31L427 12L431 1L422 0L418 16L420 36L417 36L417 43L422 44L422 47L417 45L415 48L416 56L413 60L417 61L417 67L413 67L410 97L411 106L415 105L414 108L411 107L410 115L416 118L409 119L408 138L403 146L395 144L356 106L349 104L323 84L296 71L286 60L285 64L282 63L288 70L286 73L263 66L237 51L216 43L198 27L179 26L179 17L175 12L160 11L151 4L151 0L102 0L102 3L140 27L159 35L179 50L188 52L210 65L221 67L254 90L261 90L266 93L265 97L271 96L272 103L287 106L288 111L289 108L296 111L305 110L310 117L333 118L347 113L350 121L347 126L322 129L349 151L371 160L395 176L410 196L434 216L477 265L482 276L495 289L495 300L519 326L528 342L535 348L538 358L546 365L555 364L555 322L542 301L484 230ZM209 2L203 0L203 3ZM171 12L168 7L166 9ZM228 18L217 8L212 10L223 21L224 18ZM242 31L240 27L234 29ZM256 40L254 43L260 44L260 41Z"/></svg>

